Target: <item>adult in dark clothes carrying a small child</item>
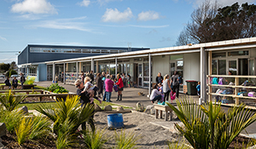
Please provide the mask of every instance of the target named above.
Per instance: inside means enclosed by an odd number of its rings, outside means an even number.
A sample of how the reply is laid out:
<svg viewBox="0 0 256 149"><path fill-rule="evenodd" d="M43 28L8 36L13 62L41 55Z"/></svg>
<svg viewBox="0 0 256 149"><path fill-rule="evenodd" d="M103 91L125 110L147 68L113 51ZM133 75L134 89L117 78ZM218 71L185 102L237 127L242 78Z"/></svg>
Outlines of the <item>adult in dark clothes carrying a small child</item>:
<svg viewBox="0 0 256 149"><path fill-rule="evenodd" d="M78 88L77 95L79 95L79 97L80 97L81 106L84 107L87 104L91 104L92 106L94 106L94 102L90 103L90 97L94 96L94 91L93 90L88 90L88 91L85 91L84 93L82 93L82 91L84 91L84 83L80 79L76 80L75 86L76 86L76 88ZM90 128L93 131L95 131L95 125L94 125L94 122L93 122L93 117L94 117L94 112L93 112L92 116L89 118L88 123L90 124ZM82 129L86 130L86 123L85 122L82 123Z"/></svg>

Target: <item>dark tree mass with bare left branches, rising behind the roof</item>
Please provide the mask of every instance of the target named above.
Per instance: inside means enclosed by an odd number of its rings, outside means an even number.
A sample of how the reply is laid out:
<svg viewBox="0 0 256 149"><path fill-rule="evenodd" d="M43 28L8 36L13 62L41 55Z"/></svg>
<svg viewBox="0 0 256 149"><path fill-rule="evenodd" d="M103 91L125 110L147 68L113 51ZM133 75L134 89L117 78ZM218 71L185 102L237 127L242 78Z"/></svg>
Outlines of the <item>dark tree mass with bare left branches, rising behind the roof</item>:
<svg viewBox="0 0 256 149"><path fill-rule="evenodd" d="M238 3L220 8L205 1L191 14L191 21L177 37L177 45L208 43L256 36L256 5Z"/></svg>

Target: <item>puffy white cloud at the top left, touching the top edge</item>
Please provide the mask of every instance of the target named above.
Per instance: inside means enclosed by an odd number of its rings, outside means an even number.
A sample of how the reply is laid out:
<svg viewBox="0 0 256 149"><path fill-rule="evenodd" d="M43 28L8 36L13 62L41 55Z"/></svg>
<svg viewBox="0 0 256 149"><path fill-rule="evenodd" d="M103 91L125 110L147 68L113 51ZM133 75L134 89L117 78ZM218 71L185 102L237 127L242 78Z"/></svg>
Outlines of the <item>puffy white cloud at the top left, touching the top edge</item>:
<svg viewBox="0 0 256 149"><path fill-rule="evenodd" d="M11 11L20 14L57 14L55 7L47 0L24 0L12 5Z"/></svg>

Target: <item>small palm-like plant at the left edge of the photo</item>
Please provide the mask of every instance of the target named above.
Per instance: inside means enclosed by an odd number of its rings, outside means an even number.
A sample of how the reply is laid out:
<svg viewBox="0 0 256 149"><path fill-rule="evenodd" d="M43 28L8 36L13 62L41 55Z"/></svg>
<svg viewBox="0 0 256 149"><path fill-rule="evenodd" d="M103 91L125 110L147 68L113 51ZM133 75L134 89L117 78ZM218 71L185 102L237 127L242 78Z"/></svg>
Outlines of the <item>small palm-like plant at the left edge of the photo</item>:
<svg viewBox="0 0 256 149"><path fill-rule="evenodd" d="M15 110L15 108L20 104L20 102L25 98L25 95L19 95L15 97L12 94L11 90L9 90L8 93L0 95L0 102L3 104L6 110L10 112Z"/></svg>

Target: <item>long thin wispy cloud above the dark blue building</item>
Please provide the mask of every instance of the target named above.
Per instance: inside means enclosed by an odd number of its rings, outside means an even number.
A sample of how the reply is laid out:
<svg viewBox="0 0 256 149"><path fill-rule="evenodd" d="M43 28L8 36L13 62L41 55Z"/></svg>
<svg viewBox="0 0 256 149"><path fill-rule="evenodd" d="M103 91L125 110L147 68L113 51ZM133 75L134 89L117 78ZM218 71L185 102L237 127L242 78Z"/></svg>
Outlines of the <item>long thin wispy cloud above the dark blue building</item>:
<svg viewBox="0 0 256 149"><path fill-rule="evenodd" d="M74 21L83 20L84 17L72 18L72 19L60 19L60 20L44 20L31 27L61 29L61 30L79 30L83 32L91 32L90 29L85 28L84 22Z"/></svg>

